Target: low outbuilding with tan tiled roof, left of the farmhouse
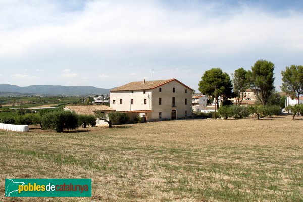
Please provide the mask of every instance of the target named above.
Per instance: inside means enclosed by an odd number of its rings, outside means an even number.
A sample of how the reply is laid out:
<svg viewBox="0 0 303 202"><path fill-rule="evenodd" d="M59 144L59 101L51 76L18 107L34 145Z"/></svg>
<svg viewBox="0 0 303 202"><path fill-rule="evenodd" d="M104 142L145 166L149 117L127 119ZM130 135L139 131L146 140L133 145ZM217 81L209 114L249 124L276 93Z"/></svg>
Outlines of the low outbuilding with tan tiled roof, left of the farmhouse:
<svg viewBox="0 0 303 202"><path fill-rule="evenodd" d="M78 105L78 106L66 106L63 108L67 111L72 111L77 114L84 115L95 115L96 112L108 114L109 112L114 112L115 110L106 105ZM97 118L97 126L109 126L109 124L103 120Z"/></svg>

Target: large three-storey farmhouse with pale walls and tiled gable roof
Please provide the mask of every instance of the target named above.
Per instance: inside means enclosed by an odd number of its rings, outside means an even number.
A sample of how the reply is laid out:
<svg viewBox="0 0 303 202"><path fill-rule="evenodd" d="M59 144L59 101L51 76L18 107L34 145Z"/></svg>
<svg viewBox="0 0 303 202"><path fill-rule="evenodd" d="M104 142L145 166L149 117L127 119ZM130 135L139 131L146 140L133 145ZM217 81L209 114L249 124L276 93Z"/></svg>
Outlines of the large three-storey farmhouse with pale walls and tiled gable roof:
<svg viewBox="0 0 303 202"><path fill-rule="evenodd" d="M127 113L130 120L181 119L192 115L192 89L177 79L136 81L112 89L111 107Z"/></svg>

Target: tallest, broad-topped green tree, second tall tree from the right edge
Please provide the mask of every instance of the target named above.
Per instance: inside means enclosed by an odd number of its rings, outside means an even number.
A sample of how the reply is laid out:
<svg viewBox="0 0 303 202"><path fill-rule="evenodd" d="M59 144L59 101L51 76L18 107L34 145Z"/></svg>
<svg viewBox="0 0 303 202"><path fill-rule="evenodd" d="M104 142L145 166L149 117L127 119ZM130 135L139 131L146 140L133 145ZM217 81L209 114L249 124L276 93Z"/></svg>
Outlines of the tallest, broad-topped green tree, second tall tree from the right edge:
<svg viewBox="0 0 303 202"><path fill-rule="evenodd" d="M262 105L267 104L269 96L275 89L274 69L275 65L272 62L258 60L254 66L251 67L251 71L247 71L250 88Z"/></svg>

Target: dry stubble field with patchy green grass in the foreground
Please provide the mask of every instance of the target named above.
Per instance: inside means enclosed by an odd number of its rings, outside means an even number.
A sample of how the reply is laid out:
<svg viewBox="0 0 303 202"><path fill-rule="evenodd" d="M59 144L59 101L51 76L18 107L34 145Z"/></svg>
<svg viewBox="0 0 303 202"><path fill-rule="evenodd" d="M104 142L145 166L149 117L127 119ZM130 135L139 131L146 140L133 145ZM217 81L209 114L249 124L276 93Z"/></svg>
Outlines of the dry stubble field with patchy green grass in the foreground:
<svg viewBox="0 0 303 202"><path fill-rule="evenodd" d="M303 201L303 120L0 131L0 201ZM91 178L92 198L5 198L5 178Z"/></svg>

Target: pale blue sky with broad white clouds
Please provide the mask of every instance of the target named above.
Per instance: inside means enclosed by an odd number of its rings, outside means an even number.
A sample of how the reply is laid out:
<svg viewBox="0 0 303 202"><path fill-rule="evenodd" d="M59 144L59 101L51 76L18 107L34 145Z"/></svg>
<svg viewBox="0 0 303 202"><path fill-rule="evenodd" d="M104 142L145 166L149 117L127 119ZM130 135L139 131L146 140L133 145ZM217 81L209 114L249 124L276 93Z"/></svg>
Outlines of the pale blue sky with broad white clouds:
<svg viewBox="0 0 303 202"><path fill-rule="evenodd" d="M0 0L0 84L113 88L303 65L302 1Z"/></svg>

